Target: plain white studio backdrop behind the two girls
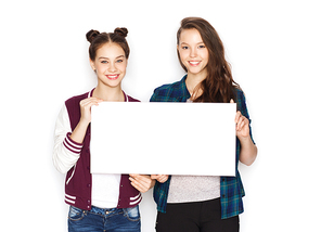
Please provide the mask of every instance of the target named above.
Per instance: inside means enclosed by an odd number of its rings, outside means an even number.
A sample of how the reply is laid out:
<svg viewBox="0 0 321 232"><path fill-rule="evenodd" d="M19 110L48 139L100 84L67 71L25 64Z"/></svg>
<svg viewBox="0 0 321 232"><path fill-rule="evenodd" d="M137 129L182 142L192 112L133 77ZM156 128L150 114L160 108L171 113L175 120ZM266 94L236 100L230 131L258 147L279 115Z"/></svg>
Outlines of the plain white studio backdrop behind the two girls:
<svg viewBox="0 0 321 232"><path fill-rule="evenodd" d="M97 85L86 33L128 28L123 88L147 102L183 76L176 31L185 16L217 29L253 119L259 153L240 165L241 231L320 231L321 15L311 0L1 2L1 231L67 231L53 130L64 101ZM141 215L142 231L153 232L152 191Z"/></svg>

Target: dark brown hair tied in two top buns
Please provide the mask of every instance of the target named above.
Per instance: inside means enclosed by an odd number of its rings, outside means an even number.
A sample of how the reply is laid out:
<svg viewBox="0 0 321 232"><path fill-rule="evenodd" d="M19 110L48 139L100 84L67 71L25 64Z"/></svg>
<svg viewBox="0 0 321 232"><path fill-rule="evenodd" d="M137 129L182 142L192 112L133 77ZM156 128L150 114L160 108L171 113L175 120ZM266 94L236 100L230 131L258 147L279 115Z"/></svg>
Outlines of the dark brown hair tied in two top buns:
<svg viewBox="0 0 321 232"><path fill-rule="evenodd" d="M91 61L94 61L97 50L99 50L103 44L107 42L115 42L118 46L120 46L125 52L126 59L129 56L129 46L127 43L126 37L127 37L128 30L125 27L117 27L114 33L100 33L98 30L89 30L86 34L87 40L90 42L89 47L89 57Z"/></svg>

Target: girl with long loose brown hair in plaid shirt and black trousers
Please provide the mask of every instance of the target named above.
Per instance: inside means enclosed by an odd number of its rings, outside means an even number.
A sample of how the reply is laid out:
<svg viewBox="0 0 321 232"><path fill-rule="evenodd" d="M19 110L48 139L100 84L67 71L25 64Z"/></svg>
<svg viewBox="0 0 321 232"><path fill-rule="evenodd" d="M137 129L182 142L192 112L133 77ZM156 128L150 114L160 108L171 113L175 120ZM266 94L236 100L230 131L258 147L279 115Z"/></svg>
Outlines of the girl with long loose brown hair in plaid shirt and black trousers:
<svg viewBox="0 0 321 232"><path fill-rule="evenodd" d="M207 21L200 17L181 21L177 52L188 74L178 82L155 89L151 102L236 102L236 176L152 176L157 180L154 188L158 209L156 231L239 231L244 189L237 163L249 166L257 156L243 91L233 80L223 44ZM192 138L187 137L187 143L193 142ZM210 162L210 157L204 162Z"/></svg>

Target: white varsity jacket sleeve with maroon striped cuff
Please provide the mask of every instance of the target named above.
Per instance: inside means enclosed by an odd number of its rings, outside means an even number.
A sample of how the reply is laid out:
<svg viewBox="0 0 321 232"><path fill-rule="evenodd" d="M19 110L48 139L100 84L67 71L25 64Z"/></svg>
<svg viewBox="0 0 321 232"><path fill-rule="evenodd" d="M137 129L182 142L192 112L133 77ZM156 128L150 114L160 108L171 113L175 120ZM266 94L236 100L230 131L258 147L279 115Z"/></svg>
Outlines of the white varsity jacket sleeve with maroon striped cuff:
<svg viewBox="0 0 321 232"><path fill-rule="evenodd" d="M82 144L73 141L69 136L72 128L66 106L61 109L54 130L53 165L61 172L66 173L80 157Z"/></svg>

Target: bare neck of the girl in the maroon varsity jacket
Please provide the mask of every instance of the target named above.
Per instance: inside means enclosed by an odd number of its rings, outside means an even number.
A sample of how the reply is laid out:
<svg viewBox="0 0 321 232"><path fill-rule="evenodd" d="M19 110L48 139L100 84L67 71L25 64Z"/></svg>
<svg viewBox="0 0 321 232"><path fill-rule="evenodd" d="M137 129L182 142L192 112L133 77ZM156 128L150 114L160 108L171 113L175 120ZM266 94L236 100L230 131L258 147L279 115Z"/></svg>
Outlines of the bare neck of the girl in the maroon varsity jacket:
<svg viewBox="0 0 321 232"><path fill-rule="evenodd" d="M124 92L119 87L111 88L111 87L102 87L101 85L98 85L97 88L94 89L93 96L102 99L106 102L124 102L125 96Z"/></svg>

